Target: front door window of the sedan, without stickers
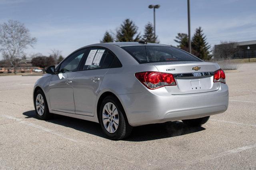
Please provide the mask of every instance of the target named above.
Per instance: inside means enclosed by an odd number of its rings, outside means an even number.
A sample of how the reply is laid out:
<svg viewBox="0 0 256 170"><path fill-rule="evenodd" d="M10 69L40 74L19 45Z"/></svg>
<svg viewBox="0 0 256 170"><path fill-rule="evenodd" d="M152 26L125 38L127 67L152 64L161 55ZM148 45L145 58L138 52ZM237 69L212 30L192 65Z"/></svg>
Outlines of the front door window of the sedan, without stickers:
<svg viewBox="0 0 256 170"><path fill-rule="evenodd" d="M71 56L69 56L63 63L60 65L60 73L66 73L70 71L78 71L79 63L85 53L86 49L82 49Z"/></svg>

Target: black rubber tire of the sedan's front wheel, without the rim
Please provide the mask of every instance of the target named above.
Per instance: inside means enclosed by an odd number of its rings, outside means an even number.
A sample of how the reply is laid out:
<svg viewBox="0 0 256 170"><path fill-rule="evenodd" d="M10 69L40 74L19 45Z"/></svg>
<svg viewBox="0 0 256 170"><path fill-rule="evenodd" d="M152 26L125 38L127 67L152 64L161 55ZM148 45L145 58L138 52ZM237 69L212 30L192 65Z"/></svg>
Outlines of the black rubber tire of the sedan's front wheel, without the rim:
<svg viewBox="0 0 256 170"><path fill-rule="evenodd" d="M44 99L44 112L42 115L39 115L37 110L36 110L36 97L38 94L41 94L43 99ZM35 93L34 93L34 107L35 107L35 111L36 111L36 117L40 120L48 120L50 118L52 118L52 113L49 113L49 109L48 109L48 104L46 101L46 97L44 95L44 92L41 89L38 89Z"/></svg>

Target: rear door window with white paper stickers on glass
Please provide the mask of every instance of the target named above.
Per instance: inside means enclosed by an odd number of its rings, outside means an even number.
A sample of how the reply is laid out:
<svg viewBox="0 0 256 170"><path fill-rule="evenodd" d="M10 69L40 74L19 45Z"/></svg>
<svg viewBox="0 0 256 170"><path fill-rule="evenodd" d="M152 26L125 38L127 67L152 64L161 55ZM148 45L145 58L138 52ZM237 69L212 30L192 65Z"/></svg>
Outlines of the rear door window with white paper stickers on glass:
<svg viewBox="0 0 256 170"><path fill-rule="evenodd" d="M107 49L92 48L88 53L83 69L90 70L110 68L114 58L114 55L112 55Z"/></svg>

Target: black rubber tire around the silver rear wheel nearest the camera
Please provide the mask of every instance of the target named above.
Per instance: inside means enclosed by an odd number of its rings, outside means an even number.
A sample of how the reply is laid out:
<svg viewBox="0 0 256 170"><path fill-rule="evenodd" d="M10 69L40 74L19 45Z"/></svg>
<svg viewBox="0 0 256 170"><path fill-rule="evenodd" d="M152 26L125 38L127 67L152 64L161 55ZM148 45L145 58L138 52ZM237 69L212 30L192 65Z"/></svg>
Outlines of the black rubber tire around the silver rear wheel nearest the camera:
<svg viewBox="0 0 256 170"><path fill-rule="evenodd" d="M104 124L103 124L103 120L102 120L103 108L106 105L106 103L109 103L109 102L113 103L118 111L119 123L118 123L118 127L114 133L110 133L106 130L106 128L104 127ZM120 140L120 139L126 138L132 132L132 126L128 123L124 109L123 109L120 101L118 99L116 99L116 97L114 97L114 96L107 96L105 99L103 99L103 101L100 105L99 119L100 119L100 125L101 125L101 128L102 128L104 134L106 134L106 136L108 136L108 138L110 138L112 140Z"/></svg>

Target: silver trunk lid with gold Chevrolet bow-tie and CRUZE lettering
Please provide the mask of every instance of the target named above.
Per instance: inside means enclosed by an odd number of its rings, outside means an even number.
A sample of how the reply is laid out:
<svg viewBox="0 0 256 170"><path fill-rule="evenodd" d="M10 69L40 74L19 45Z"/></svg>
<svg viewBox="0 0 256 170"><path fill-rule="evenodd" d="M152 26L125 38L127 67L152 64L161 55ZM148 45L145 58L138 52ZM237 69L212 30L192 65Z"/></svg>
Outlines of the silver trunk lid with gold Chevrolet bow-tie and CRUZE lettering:
<svg viewBox="0 0 256 170"><path fill-rule="evenodd" d="M219 82L213 82L214 71L220 69L217 63L181 61L154 65L159 72L174 75L177 85L165 87L172 95L216 91L220 87Z"/></svg>

